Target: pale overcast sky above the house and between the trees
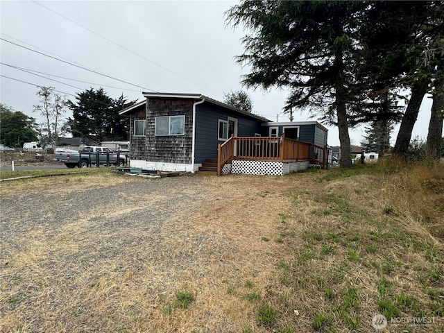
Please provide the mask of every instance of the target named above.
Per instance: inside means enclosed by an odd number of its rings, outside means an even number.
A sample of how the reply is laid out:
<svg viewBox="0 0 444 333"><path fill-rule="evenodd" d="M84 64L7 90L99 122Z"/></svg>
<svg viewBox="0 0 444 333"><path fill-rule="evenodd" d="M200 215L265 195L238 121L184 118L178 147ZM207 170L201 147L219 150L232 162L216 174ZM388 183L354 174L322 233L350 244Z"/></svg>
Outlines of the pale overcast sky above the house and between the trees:
<svg viewBox="0 0 444 333"><path fill-rule="evenodd" d="M285 90L241 87L248 67L237 65L234 56L243 52L246 32L227 27L224 19L236 3L0 1L0 101L41 120L33 112L39 102L36 85L55 87L72 101L90 87L129 100L155 91L200 93L222 101L225 92L244 89L256 114L289 121L282 114ZM430 99L422 103L413 137L427 137L431 105ZM314 120L309 117L298 112L295 121ZM337 129L327 127L328 144L339 145ZM352 143L359 144L363 134L362 128L350 130Z"/></svg>

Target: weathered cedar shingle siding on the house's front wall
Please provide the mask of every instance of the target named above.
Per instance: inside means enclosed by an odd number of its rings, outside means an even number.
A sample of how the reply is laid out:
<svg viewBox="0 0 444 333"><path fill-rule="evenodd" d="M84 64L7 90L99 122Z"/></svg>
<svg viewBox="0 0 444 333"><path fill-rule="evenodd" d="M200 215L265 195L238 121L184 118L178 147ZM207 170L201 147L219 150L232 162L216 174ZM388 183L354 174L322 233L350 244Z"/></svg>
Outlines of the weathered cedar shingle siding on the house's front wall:
<svg viewBox="0 0 444 333"><path fill-rule="evenodd" d="M131 159L191 164L192 99L147 99L146 111L131 115ZM155 117L185 115L185 135L155 135ZM145 137L134 136L134 121L146 119Z"/></svg>

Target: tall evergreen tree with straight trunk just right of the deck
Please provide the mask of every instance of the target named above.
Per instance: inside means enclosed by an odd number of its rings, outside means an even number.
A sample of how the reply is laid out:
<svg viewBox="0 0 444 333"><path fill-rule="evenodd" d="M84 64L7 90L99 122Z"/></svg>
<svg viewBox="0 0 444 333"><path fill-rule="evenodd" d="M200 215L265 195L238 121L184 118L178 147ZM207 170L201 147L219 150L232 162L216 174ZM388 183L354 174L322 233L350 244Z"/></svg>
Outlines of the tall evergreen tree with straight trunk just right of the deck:
<svg viewBox="0 0 444 333"><path fill-rule="evenodd" d="M341 167L350 167L348 117L357 100L355 67L359 60L361 1L241 1L228 11L228 22L244 25L244 54L251 67L248 87L289 87L284 111L321 112L339 128Z"/></svg>

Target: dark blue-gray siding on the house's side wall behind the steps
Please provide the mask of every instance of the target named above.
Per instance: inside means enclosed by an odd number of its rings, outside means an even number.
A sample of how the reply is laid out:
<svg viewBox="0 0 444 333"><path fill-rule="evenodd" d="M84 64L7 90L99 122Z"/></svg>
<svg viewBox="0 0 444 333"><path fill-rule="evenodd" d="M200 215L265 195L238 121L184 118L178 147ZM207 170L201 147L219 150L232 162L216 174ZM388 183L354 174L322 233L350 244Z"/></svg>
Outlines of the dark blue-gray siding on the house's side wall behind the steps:
<svg viewBox="0 0 444 333"><path fill-rule="evenodd" d="M223 144L223 141L218 139L219 119L228 120L228 117L238 119L237 136L239 137L253 137L255 133L262 132L262 121L251 119L244 114L230 112L212 103L198 104L196 105L195 163L202 163L206 158L217 157L217 145Z"/></svg>

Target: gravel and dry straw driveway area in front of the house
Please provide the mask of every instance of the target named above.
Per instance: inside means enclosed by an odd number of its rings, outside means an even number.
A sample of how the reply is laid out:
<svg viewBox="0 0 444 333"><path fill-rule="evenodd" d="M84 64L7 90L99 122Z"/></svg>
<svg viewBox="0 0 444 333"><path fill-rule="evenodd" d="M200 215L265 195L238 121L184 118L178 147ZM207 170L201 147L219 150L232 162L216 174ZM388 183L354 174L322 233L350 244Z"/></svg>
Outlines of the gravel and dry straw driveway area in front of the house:
<svg viewBox="0 0 444 333"><path fill-rule="evenodd" d="M226 289L264 292L296 178L109 180L2 185L1 332L261 332Z"/></svg>

